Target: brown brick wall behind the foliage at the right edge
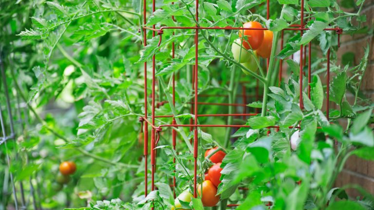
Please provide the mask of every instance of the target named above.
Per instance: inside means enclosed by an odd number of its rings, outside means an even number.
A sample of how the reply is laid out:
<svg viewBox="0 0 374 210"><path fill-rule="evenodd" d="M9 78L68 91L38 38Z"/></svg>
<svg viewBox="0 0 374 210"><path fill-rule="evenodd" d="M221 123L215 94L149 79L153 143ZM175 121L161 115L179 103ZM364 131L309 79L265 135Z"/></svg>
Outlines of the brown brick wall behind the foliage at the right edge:
<svg viewBox="0 0 374 210"><path fill-rule="evenodd" d="M367 26L370 30L374 28L374 0L366 0L365 6L361 12L367 17L367 22L363 26ZM369 64L366 70L361 90L363 93L374 101L374 39L373 33L360 35L343 35L341 38L341 46L337 52L337 58L341 62L341 57L347 52L355 53L354 61L357 65L364 54L363 48L369 42L370 55ZM347 95L348 100L352 100L353 95ZM347 183L354 183L362 186L364 189L374 194L374 162L362 160L356 156L351 156L344 170L339 174L336 182L337 187L341 187ZM355 190L348 190L348 194L352 197L359 196L360 193Z"/></svg>

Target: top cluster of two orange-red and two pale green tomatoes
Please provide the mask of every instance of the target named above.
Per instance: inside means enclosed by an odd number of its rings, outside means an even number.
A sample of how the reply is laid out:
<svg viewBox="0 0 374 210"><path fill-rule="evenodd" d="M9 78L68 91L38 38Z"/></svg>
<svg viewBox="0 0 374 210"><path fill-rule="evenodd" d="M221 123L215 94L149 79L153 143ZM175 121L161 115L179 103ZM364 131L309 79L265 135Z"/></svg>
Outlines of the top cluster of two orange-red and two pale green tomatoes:
<svg viewBox="0 0 374 210"><path fill-rule="evenodd" d="M243 29L239 31L239 37L231 46L234 59L250 71L256 72L258 65L256 59L260 56L269 58L273 45L273 32L269 30L261 30L262 25L257 21L250 21L243 24ZM249 74L244 71L245 74Z"/></svg>

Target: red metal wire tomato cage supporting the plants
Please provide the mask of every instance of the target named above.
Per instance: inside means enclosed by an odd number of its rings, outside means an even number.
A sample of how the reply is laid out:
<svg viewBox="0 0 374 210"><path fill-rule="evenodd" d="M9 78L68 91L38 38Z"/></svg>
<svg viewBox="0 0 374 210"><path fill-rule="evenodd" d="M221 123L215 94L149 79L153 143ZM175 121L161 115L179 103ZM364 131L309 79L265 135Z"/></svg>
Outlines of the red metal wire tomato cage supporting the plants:
<svg viewBox="0 0 374 210"><path fill-rule="evenodd" d="M155 12L156 10L156 0L152 0L152 12ZM300 24L296 24L296 25L290 25L289 28L285 28L281 31L281 49L283 48L283 31L299 31L301 36L303 34L304 31L306 30L309 30L308 28L305 28L305 19L304 19L304 11L302 8L304 8L304 1L303 0L300 0L301 3L300 3L300 13L301 13L301 17L300 17ZM172 2L173 4L174 2ZM269 0L266 1L266 6L267 6L267 19L269 19ZM195 19L197 21L199 21L199 13L198 13L198 10L199 10L199 0L196 0L195 1L195 5L196 5L196 9L195 9ZM246 109L246 104L247 104L247 99L248 98L255 98L256 100L258 100L260 97L259 97L259 82L257 81L257 87L255 89L255 92L256 94L255 95L247 95L246 93L246 88L244 86L244 84L242 84L242 93L241 94L238 94L236 95L237 98L240 98L241 97L241 100L242 100L242 103L210 103L210 102L200 102L198 101L198 98L199 97L210 97L210 96L214 96L214 97L222 97L222 96L225 96L225 95L207 95L207 94L199 94L198 93L198 80L199 80L199 76L198 76L198 71L199 71L199 57L198 57L198 43L199 43L199 31L200 30L268 30L267 28L241 28L241 27L199 27L198 25L194 26L194 27L179 27L179 26L173 26L173 27L169 27L169 26L163 26L159 29L156 29L155 28L155 25L152 25L152 26L146 26L147 24L147 0L143 0L143 34L144 34L144 46L147 46L147 30L150 30L152 31L152 38L154 38L156 35L159 36L159 43L158 45L161 44L162 42L162 35L164 33L165 30L191 30L191 29L194 29L195 30L195 35L194 35L194 44L195 44L195 64L193 65L193 68L192 68L192 87L191 89L193 90L193 93L194 93L194 98L191 102L188 102L189 104L191 104L191 109L190 109L190 114L194 115L195 116L195 119L190 119L190 123L189 124L184 124L184 125L177 125L176 124L176 120L174 118L174 115L155 115L155 109L164 105L165 103L167 103L166 101L159 101L159 102L156 102L157 98L155 97L155 87L156 87L156 76L155 76L155 66L156 66L156 57L155 55L153 55L152 57L152 80L151 80L151 95L150 95L150 100L151 100L151 110L150 110L150 115L148 114L148 108L147 108L147 105L148 105L148 96L149 96L149 93L148 93L148 84L147 84L147 78L148 78L148 75L147 75L147 62L144 63L144 95L145 95L145 99L144 99L144 106L146 107L145 108L145 113L144 113L144 116L140 117L139 118L139 121L142 123L142 131L144 130L144 158L145 158L145 176L144 176L144 180L145 180L145 196L147 196L148 194L148 170L149 170L149 166L148 166L148 163L149 163L149 160L148 160L148 156L149 156L149 153L148 153L148 150L149 150L149 133L148 133L148 127L150 126L151 127L151 134L150 134L150 171L151 171L151 188L150 190L153 191L155 190L155 171L156 171L156 150L155 148L157 147L157 143L160 139L160 135L161 135L161 131L164 129L164 128L168 128L168 127L174 127L174 128L178 128L178 127L189 127L191 131L193 131L193 157L194 157L194 175L193 175L193 180L194 180L194 184L193 184L193 195L194 197L197 197L197 158L198 158L198 153L200 151L198 151L198 128L204 128L204 127L226 127L226 128L242 128L242 127L250 127L250 126L247 126L247 125L200 125L198 124L198 117L203 117L203 116L210 116L210 117L218 117L218 116L236 116L236 117L242 117L243 119L246 119L248 118L249 116L253 116L253 115L257 115L257 113L259 112L258 109L256 109L255 113L247 113L247 109ZM172 17L172 19L175 21L174 17ZM309 19L311 20L311 19ZM338 47L340 46L340 35L342 34L342 29L340 28L325 28L324 30L326 31L335 31L337 33L337 43L338 43ZM305 47L305 48L304 48ZM308 47L308 50L306 50L306 48ZM299 70L299 75L304 75L304 72L303 72L303 68L304 66L307 65L307 69L308 69L308 72L307 72L307 78L308 78L308 97L310 98L310 83L311 83L311 42L308 43L308 46L303 46L301 45L300 46L300 60L299 60L299 63L300 63L300 70ZM308 54L308 56L306 55ZM172 55L172 58L175 57L175 45L174 45L174 42L171 44L171 55ZM308 57L308 60L306 60L306 57ZM279 60L280 64L279 64L279 84L281 84L281 80L282 80L282 74L283 74L283 68L282 68L282 62L283 60L280 59ZM326 112L327 112L327 118L329 118L329 100L330 100L330 90L329 90L329 85L330 85L330 50L328 50L327 52L327 77L326 77L326 84L327 84L327 90L326 90ZM268 65L269 65L269 58L267 59L267 68L268 68ZM173 73L172 75L172 102L173 102L173 105L175 105L175 82L176 82L176 74L175 72ZM237 82L237 81L236 81ZM303 109L303 96L302 96L302 83L303 83L303 80L302 80L302 76L300 76L300 80L299 80L299 83L300 83L300 89L299 89L299 106L301 109ZM234 107L243 107L242 109L242 113L236 113L236 114L199 114L198 113L198 107L199 105L209 105L209 106L234 106ZM161 124L161 125L156 125L155 124L155 119L156 118L172 118L172 123L171 124ZM144 129L143 129L144 127ZM271 128L275 128L275 129L279 129L279 126L270 126L268 127L269 131L268 133L270 132L270 129ZM175 150L176 149L176 137L177 137L177 133L175 131L175 129L172 129L172 148ZM173 160L173 162L175 163L175 158ZM175 171L174 171L175 172ZM176 186L176 180L175 180L175 176L173 177L173 184L171 185L171 187L174 188L174 197L176 196L175 194L175 186ZM246 190L246 189L242 189L242 190ZM269 202L266 204L266 206L271 206L272 204ZM228 204L227 206L230 206L230 207L234 207L234 206L239 206L239 204Z"/></svg>

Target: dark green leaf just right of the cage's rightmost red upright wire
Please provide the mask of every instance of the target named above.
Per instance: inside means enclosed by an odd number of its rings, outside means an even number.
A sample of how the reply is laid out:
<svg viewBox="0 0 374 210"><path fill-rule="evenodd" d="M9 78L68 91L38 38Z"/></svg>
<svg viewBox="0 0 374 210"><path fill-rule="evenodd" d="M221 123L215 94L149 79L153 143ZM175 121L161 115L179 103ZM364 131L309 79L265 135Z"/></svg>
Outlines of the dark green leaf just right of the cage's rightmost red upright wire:
<svg viewBox="0 0 374 210"><path fill-rule="evenodd" d="M340 72L335 76L330 83L330 101L337 104L341 103L346 90L347 75L345 72Z"/></svg>

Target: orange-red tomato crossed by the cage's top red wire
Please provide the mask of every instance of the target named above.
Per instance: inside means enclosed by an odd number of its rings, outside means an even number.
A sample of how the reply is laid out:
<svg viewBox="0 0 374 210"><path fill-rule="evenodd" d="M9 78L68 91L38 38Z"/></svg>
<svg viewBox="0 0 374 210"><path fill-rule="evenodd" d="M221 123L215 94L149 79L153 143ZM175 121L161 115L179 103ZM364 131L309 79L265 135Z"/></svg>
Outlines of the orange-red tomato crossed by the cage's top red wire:
<svg viewBox="0 0 374 210"><path fill-rule="evenodd" d="M244 23L243 28L262 28L262 25L257 21L250 21ZM245 49L257 50L263 41L263 30L239 30L239 37L243 37L243 46Z"/></svg>

